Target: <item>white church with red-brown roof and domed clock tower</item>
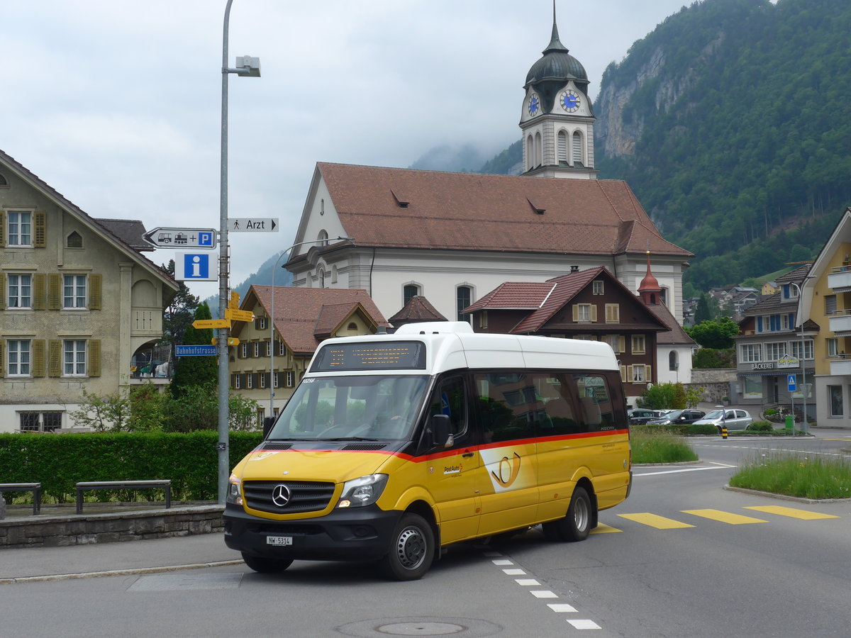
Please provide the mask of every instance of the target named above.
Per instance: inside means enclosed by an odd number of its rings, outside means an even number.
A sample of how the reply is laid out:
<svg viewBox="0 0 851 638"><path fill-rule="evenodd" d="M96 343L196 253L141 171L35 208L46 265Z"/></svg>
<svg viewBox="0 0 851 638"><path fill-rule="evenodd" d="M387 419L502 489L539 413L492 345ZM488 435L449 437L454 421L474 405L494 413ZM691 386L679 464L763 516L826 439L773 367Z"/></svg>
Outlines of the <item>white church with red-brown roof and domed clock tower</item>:
<svg viewBox="0 0 851 638"><path fill-rule="evenodd" d="M414 297L442 316L504 282L604 268L632 293L647 272L682 322L693 256L665 240L630 187L597 179L585 68L558 36L529 69L519 126L523 174L318 162L286 268L293 285L364 289L387 317Z"/></svg>

